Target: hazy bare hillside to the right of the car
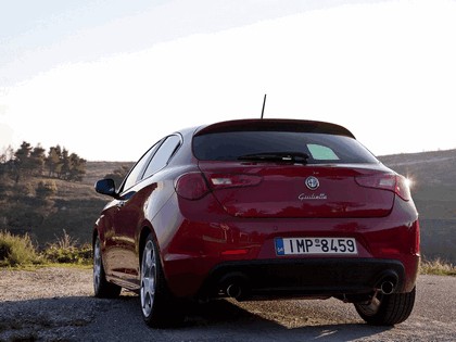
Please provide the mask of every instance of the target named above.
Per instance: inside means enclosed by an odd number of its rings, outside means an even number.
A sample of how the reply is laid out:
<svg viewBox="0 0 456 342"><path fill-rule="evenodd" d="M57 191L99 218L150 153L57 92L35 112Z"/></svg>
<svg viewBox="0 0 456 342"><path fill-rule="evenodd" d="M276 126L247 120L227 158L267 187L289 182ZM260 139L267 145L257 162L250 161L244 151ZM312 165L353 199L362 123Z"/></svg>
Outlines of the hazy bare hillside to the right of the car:
<svg viewBox="0 0 456 342"><path fill-rule="evenodd" d="M413 181L411 194L420 215L423 255L456 263L456 150L379 159Z"/></svg>

